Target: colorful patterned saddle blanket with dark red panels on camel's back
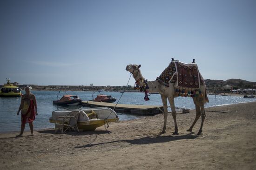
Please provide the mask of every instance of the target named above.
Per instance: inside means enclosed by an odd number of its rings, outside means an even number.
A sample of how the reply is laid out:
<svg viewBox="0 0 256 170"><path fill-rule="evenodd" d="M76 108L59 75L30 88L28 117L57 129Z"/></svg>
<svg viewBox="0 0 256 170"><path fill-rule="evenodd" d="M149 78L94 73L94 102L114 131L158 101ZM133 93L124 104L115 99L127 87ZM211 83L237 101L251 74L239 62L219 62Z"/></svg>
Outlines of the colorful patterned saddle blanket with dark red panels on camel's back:
<svg viewBox="0 0 256 170"><path fill-rule="evenodd" d="M175 83L177 89L195 90L204 85L195 63L186 64L178 60L172 61L156 80L165 86L169 86L169 82Z"/></svg>

